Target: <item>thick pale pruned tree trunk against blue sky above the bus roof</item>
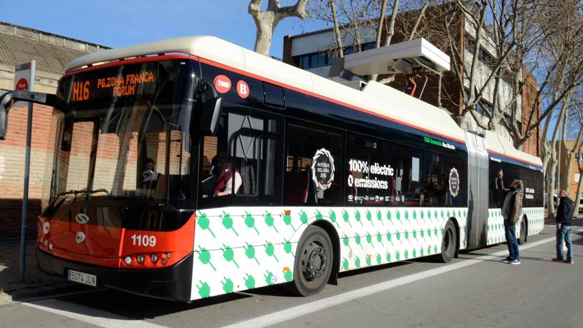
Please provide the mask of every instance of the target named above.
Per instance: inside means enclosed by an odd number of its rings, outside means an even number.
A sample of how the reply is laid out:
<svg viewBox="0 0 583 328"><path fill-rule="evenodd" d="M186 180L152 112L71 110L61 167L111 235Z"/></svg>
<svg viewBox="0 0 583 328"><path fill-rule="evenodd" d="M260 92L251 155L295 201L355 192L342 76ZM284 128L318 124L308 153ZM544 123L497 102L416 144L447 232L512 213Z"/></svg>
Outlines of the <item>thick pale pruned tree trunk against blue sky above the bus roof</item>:
<svg viewBox="0 0 583 328"><path fill-rule="evenodd" d="M263 0L251 0L248 12L255 21L257 36L255 36L255 52L269 55L273 30L279 22L287 17L305 18L305 4L308 0L297 0L293 6L282 7L279 0L268 0L267 10L261 11Z"/></svg>

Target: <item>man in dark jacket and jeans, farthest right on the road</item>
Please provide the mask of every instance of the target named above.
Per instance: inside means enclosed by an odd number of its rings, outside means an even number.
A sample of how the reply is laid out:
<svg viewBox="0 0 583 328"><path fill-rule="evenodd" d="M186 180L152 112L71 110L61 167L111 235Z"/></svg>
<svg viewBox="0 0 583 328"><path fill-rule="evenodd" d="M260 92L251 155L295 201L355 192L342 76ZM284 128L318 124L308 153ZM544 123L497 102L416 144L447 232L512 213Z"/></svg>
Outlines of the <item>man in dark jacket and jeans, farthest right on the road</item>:
<svg viewBox="0 0 583 328"><path fill-rule="evenodd" d="M573 229L573 212L575 206L569 192L561 190L559 193L560 203L557 208L557 257L553 259L556 262L565 262L575 264L573 261L573 243L571 243L571 229ZM567 245L567 259L563 261L563 240Z"/></svg>

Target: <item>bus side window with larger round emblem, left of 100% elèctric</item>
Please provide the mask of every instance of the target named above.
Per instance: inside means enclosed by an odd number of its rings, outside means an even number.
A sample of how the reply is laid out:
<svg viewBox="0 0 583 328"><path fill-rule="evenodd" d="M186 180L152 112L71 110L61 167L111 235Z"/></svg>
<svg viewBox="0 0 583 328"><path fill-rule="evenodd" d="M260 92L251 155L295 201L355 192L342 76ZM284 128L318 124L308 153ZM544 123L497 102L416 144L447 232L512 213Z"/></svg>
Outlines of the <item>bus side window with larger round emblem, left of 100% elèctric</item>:
<svg viewBox="0 0 583 328"><path fill-rule="evenodd" d="M301 123L286 136L283 204L342 205L342 132Z"/></svg>

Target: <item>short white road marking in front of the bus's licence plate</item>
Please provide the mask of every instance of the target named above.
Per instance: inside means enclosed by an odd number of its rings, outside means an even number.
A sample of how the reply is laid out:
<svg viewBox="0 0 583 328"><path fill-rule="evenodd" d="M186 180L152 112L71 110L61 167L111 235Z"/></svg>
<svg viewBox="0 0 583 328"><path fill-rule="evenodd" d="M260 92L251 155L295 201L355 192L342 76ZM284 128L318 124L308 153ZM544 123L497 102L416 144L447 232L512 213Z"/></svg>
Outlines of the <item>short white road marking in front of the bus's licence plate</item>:
<svg viewBox="0 0 583 328"><path fill-rule="evenodd" d="M23 302L21 304L100 327L164 327L159 326L158 324L135 320L114 313L89 308L88 306L59 301L58 299L45 299L43 301L31 303Z"/></svg>

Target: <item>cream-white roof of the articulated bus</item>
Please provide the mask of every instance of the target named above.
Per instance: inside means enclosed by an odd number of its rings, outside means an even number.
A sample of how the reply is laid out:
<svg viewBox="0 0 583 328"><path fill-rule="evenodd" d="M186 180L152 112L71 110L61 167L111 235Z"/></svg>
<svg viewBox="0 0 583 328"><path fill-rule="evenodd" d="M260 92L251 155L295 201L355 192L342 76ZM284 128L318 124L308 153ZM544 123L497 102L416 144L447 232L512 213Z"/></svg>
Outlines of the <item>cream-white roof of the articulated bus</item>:
<svg viewBox="0 0 583 328"><path fill-rule="evenodd" d="M259 76L270 82L300 89L314 96L366 111L380 118L397 121L445 138L465 141L463 130L444 110L394 88L377 82L368 82L363 90L353 89L213 36L178 37L102 50L71 61L65 66L65 70L70 71L127 58L171 53L194 55ZM491 132L487 133L489 134ZM486 139L488 148L493 151L533 164L542 163L535 156L517 151L508 142L503 144L496 135L486 137Z"/></svg>

